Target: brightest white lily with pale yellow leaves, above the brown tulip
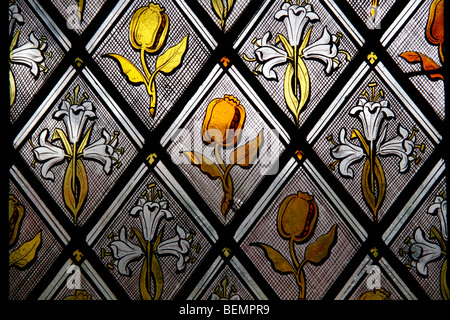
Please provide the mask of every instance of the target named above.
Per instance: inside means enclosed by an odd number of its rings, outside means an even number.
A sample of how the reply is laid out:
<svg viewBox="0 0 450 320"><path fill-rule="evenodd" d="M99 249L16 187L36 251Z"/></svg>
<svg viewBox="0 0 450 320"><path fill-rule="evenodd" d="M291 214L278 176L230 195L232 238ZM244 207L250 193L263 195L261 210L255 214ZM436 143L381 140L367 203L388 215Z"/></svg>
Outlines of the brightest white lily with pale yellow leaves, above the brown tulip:
<svg viewBox="0 0 450 320"><path fill-rule="evenodd" d="M325 73L330 75L342 65L337 58L338 54L344 54L347 60L350 60L350 55L338 48L342 35L340 33L332 35L326 26L322 29L322 35L309 43L312 26L306 31L307 25L319 21L320 18L306 1L302 5L286 1L275 13L274 18L284 23L287 38L283 34L278 34L273 45L269 43L270 32L266 32L262 38L252 41L254 58L246 54L243 58L258 63L254 73L260 73L266 79L275 81L278 81L278 76L273 69L287 64L283 84L284 97L288 109L298 124L300 112L309 101L311 94L311 79L305 61L314 60L323 63ZM280 42L282 46L279 47Z"/></svg>

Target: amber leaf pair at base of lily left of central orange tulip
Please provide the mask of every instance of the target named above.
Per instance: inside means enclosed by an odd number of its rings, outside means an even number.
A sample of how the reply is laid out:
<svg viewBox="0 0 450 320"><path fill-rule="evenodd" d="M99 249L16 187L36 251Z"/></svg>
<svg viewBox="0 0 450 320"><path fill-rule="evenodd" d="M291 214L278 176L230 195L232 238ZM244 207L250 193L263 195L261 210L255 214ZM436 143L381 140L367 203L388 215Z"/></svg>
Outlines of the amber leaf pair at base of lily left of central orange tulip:
<svg viewBox="0 0 450 320"><path fill-rule="evenodd" d="M63 197L64 203L73 214L75 222L86 199L87 191L88 182L83 162L76 157L72 157L64 175Z"/></svg>

